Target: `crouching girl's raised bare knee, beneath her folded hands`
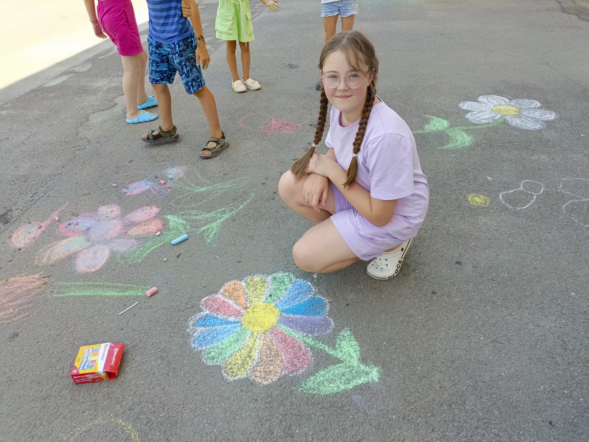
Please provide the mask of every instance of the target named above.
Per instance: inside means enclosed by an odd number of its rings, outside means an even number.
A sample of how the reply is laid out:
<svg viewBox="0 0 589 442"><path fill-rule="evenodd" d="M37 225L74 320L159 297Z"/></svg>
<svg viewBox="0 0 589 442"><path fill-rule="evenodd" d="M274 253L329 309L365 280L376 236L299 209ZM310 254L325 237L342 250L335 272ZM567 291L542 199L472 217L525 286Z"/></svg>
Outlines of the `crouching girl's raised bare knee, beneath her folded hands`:
<svg viewBox="0 0 589 442"><path fill-rule="evenodd" d="M322 207L320 212L316 212L306 202L305 197L303 197L303 184L305 184L305 180L305 178L296 180L290 170L286 171L278 182L278 194L284 204L292 209L293 212L305 217L313 224L319 224L335 213L335 198L330 188L329 192L327 192L325 206Z"/></svg>

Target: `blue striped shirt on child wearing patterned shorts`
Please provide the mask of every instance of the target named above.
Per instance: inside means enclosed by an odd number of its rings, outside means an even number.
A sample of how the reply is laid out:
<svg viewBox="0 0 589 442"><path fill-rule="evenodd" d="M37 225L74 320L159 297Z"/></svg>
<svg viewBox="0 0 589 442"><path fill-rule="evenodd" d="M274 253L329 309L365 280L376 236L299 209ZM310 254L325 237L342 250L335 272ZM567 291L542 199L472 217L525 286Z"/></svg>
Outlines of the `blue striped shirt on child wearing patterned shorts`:
<svg viewBox="0 0 589 442"><path fill-rule="evenodd" d="M182 17L182 0L147 0L149 34L160 43L174 43L194 34L188 18Z"/></svg>

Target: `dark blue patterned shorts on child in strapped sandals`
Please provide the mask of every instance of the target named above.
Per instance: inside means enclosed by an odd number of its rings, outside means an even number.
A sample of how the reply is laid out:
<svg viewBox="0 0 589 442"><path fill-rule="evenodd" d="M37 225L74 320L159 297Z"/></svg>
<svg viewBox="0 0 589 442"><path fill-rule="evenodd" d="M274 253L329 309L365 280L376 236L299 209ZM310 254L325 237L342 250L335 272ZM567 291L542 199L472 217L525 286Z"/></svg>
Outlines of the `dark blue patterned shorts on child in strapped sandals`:
<svg viewBox="0 0 589 442"><path fill-rule="evenodd" d="M174 43L160 43L148 35L147 47L151 84L172 84L178 72L186 93L196 94L204 87L203 72L196 62L194 34Z"/></svg>

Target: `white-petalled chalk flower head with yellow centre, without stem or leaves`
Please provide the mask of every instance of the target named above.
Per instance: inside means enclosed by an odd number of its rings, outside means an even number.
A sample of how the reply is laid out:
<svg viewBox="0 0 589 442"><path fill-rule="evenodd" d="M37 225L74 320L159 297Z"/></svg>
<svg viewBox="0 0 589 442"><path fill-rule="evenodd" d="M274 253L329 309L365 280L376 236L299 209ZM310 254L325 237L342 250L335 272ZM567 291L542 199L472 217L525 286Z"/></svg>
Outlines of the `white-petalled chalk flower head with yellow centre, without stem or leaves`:
<svg viewBox="0 0 589 442"><path fill-rule="evenodd" d="M465 115L466 120L475 124L488 124L504 118L513 127L525 130L538 130L545 126L544 121L551 121L557 114L542 109L542 104L536 100L509 98L499 95L481 95L477 101L462 101L458 105L464 110L471 111Z"/></svg>

